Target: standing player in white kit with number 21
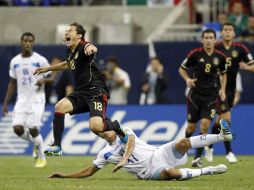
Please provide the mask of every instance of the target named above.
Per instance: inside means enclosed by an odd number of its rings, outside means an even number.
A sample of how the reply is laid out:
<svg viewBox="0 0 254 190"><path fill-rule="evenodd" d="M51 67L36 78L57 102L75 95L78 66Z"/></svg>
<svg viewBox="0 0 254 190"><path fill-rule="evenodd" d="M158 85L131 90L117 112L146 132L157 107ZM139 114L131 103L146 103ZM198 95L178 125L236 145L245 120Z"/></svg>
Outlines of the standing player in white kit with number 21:
<svg viewBox="0 0 254 190"><path fill-rule="evenodd" d="M14 132L24 140L34 144L37 158L35 167L46 166L43 139L40 134L42 115L45 108L44 84L53 78L45 75L34 76L38 67L49 66L47 59L33 51L35 37L26 32L21 36L21 53L10 63L10 81L3 103L3 115L8 114L8 103L17 89L17 100L13 110Z"/></svg>

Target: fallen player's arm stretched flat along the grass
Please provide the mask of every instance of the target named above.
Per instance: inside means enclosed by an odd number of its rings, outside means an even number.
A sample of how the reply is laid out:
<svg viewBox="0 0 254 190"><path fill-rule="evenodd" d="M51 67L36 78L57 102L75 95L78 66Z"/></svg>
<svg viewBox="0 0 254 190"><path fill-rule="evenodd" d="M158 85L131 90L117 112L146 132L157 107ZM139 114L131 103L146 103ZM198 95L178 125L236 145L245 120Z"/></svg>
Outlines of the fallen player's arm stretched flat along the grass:
<svg viewBox="0 0 254 190"><path fill-rule="evenodd" d="M71 174L62 174L62 173L54 173L49 178L86 178L92 176L96 173L100 168L95 165L89 166L82 171L71 173Z"/></svg>

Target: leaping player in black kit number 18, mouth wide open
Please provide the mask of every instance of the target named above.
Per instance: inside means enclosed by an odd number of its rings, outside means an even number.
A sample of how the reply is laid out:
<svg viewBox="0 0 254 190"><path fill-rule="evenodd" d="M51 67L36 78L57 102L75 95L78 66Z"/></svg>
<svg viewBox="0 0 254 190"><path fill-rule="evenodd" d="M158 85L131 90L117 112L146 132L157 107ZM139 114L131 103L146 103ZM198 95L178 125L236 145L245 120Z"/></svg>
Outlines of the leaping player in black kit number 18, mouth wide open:
<svg viewBox="0 0 254 190"><path fill-rule="evenodd" d="M53 120L54 143L46 149L48 155L62 155L61 138L66 113L90 112L89 127L97 135L114 130L120 138L124 133L117 121L106 118L109 92L95 62L97 48L84 40L85 29L78 23L70 24L65 31L68 47L66 61L50 67L38 68L34 74L70 69L74 76L74 92L55 105Z"/></svg>

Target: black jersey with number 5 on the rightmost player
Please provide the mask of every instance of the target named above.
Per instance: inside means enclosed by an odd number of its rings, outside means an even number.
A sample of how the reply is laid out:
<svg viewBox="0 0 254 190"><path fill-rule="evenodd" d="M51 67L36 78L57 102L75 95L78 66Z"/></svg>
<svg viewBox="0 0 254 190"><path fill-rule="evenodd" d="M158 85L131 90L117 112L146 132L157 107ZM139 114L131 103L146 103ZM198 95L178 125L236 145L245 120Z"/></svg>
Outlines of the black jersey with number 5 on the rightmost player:
<svg viewBox="0 0 254 190"><path fill-rule="evenodd" d="M236 89L236 76L239 70L239 63L241 61L249 63L253 61L253 57L243 44L233 43L228 49L223 43L219 43L215 47L217 50L223 52L226 56L227 63L227 92L234 92Z"/></svg>

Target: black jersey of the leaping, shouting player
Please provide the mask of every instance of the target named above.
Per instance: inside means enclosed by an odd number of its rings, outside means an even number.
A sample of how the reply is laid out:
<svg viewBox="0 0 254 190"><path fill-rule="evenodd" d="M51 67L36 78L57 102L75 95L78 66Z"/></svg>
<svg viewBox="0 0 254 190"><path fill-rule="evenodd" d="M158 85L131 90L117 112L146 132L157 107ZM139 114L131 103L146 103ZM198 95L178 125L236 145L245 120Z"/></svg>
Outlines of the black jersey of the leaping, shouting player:
<svg viewBox="0 0 254 190"><path fill-rule="evenodd" d="M86 44L79 43L74 52L67 50L67 62L74 76L75 91L86 91L96 87L109 96L102 74L96 66L95 55L88 56L84 53Z"/></svg>

